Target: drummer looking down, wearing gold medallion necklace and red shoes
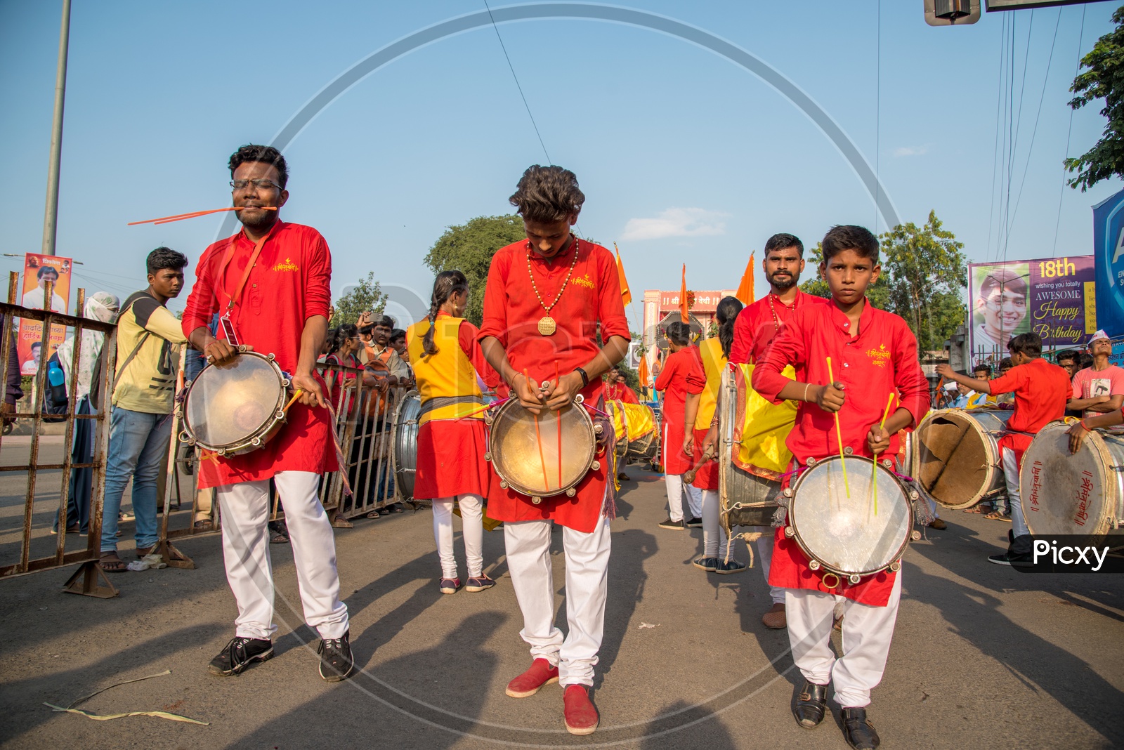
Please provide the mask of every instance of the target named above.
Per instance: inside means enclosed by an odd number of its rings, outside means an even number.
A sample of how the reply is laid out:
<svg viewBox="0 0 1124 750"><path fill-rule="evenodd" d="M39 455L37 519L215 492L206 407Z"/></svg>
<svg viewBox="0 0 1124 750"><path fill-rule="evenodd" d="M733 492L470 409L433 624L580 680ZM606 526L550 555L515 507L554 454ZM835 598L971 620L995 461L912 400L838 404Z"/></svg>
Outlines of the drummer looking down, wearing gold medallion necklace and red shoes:
<svg viewBox="0 0 1124 750"><path fill-rule="evenodd" d="M628 347L613 254L570 231L584 200L569 170L528 168L510 199L527 239L499 249L488 272L481 348L513 397L536 414L570 406L579 393L584 403L602 409L601 375ZM523 610L519 634L534 657L531 669L508 684L507 694L527 697L561 682L564 722L573 734L592 733L599 722L589 687L605 629L613 485L604 450L598 460L599 468L582 478L573 497L555 495L536 504L510 487L500 488L495 478L488 502L488 514L505 522L508 570ZM570 629L564 638L554 626L552 523L564 527Z"/></svg>

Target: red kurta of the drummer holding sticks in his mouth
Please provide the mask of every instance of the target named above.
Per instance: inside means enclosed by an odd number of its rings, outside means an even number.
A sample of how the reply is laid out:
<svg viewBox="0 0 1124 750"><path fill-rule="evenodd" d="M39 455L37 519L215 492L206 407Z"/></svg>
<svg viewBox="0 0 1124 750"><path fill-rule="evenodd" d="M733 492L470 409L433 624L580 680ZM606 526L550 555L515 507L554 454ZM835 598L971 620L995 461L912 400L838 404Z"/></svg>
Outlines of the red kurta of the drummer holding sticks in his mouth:
<svg viewBox="0 0 1124 750"><path fill-rule="evenodd" d="M232 243L234 256L220 277L223 258ZM223 290L234 293L253 250L254 243L244 231L203 250L183 311L184 335L206 328L216 312L226 312L229 298ZM330 284L332 255L320 232L278 220L250 272L242 299L230 311L241 342L260 354L274 355L282 371L296 372L305 321L312 315L327 318ZM225 338L221 327L219 338ZM336 467L328 410L294 403L285 426L264 447L228 458L203 456L199 461L199 487L268 479L278 472L323 474Z"/></svg>

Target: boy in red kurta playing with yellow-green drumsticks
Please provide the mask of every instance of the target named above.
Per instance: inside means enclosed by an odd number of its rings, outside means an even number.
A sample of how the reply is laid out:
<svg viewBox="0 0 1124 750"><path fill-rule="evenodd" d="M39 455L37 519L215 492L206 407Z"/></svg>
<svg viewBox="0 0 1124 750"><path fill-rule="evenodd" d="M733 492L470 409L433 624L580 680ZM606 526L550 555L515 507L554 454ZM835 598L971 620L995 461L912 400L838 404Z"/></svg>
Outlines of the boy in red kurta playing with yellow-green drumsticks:
<svg viewBox="0 0 1124 750"><path fill-rule="evenodd" d="M839 439L862 456L897 451L898 430L928 411L928 384L917 359L917 339L906 322L865 299L878 278L878 240L862 227L834 227L824 237L821 273L832 304L805 307L792 315L753 371L753 387L774 402L804 402L787 445L796 461L839 454ZM835 379L827 375L831 357ZM792 381L781 371L796 368ZM880 424L887 396L900 405ZM835 418L839 415L839 432ZM843 707L843 732L852 748L872 750L879 739L867 722L870 690L882 678L901 595L901 574L883 571L861 583L828 588L797 543L777 530L769 583L783 586L792 658L805 684L794 715L812 729L823 721L827 685ZM831 647L832 611L843 601L843 656Z"/></svg>

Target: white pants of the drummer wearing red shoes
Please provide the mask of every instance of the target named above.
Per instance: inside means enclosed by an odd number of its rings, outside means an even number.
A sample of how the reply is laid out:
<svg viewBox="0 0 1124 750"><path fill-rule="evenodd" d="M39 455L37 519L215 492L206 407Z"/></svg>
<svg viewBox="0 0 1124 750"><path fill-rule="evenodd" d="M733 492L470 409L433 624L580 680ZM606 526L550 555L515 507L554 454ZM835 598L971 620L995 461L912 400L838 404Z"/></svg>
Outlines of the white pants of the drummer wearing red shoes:
<svg viewBox="0 0 1124 750"><path fill-rule="evenodd" d="M531 644L532 658L558 665L559 683L563 687L592 685L605 631L609 520L602 516L589 533L562 528L565 616L570 630L564 639L562 631L554 626L551 524L552 521L504 523L507 569L523 611L519 637Z"/></svg>

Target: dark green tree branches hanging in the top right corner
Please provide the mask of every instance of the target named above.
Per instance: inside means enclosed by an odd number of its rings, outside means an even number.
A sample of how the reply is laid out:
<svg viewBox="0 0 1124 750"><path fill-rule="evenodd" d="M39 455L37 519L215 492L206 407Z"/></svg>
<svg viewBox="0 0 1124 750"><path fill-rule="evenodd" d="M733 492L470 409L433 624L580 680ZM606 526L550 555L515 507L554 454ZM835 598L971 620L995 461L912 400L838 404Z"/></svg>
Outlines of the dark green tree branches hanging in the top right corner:
<svg viewBox="0 0 1124 750"><path fill-rule="evenodd" d="M1073 79L1070 91L1077 94L1069 106L1080 109L1095 99L1104 99L1100 113L1108 120L1100 140L1081 156L1066 159L1066 168L1076 172L1070 188L1085 192L1102 180L1124 176L1124 6L1113 13L1116 24L1097 39L1093 51L1081 58L1087 68Z"/></svg>

